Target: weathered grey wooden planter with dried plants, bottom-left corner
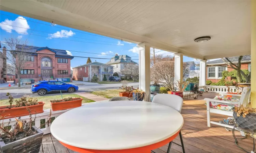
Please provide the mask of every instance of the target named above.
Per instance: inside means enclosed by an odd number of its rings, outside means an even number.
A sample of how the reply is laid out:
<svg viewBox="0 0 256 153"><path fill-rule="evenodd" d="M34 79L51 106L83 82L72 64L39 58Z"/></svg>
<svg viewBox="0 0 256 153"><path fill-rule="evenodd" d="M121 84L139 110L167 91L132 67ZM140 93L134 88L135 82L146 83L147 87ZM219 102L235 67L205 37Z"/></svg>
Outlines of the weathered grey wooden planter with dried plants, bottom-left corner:
<svg viewBox="0 0 256 153"><path fill-rule="evenodd" d="M12 126L10 125L11 119L7 125L0 123L0 152L37 153L40 151L43 140L43 132L36 126L33 126L36 115L32 120L30 108L27 107L27 111L29 112L29 121L20 121L19 117L18 119L15 118L16 123ZM5 119L2 114L0 115L0 119ZM47 117L47 121L42 124L41 127L45 124L47 124L49 127L50 122L51 111L50 115Z"/></svg>

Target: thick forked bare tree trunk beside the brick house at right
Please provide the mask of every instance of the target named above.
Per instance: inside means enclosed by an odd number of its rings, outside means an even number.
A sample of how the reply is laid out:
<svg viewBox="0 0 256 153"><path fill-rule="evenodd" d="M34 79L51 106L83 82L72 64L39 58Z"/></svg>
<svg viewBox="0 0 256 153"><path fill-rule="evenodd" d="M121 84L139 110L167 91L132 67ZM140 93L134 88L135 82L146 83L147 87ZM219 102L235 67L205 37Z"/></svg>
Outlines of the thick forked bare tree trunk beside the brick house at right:
<svg viewBox="0 0 256 153"><path fill-rule="evenodd" d="M237 70L237 81L238 83L242 82L242 77L241 74L243 75L243 77L246 80L246 83L249 83L251 80L251 72L249 75L246 75L242 70L241 70L241 60L242 60L243 56L239 56L238 57L238 62L235 64L233 62L231 62L228 57L222 58L222 61L224 61L228 66L222 66L222 67L228 67L228 68L232 68Z"/></svg>

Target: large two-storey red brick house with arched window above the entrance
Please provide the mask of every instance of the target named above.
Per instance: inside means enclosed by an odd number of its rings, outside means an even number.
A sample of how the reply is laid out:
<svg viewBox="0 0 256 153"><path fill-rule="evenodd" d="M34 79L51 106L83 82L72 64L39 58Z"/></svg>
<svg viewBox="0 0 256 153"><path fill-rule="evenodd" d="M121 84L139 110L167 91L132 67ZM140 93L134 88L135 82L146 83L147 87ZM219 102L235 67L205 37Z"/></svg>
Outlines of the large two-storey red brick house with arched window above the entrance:
<svg viewBox="0 0 256 153"><path fill-rule="evenodd" d="M21 49L31 54L26 57L27 62L25 63L25 67L19 72L20 82L30 82L31 79L39 81L40 79L45 80L52 77L72 82L70 62L74 57L68 55L66 50L16 45L16 50ZM16 83L17 81L18 79L16 77Z"/></svg>

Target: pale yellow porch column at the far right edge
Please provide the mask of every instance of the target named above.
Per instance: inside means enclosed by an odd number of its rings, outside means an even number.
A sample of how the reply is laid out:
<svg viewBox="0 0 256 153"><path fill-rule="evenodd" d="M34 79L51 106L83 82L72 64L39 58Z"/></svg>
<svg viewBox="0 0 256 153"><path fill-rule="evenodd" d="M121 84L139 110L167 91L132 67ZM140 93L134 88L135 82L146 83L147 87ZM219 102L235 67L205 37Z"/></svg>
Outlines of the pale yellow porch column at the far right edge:
<svg viewBox="0 0 256 153"><path fill-rule="evenodd" d="M251 104L256 108L256 1L251 1Z"/></svg>

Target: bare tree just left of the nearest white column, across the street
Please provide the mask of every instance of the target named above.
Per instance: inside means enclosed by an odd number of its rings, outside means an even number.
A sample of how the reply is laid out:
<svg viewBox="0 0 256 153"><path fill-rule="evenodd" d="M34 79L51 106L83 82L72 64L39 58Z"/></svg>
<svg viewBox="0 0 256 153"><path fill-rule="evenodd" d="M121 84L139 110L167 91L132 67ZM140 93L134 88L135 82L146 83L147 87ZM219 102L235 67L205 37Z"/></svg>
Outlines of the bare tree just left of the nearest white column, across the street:
<svg viewBox="0 0 256 153"><path fill-rule="evenodd" d="M136 78L139 77L139 65L129 64L121 70L121 73L125 76L131 76L133 81L136 81Z"/></svg>

